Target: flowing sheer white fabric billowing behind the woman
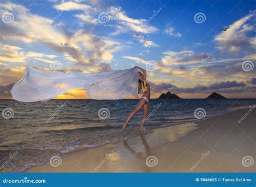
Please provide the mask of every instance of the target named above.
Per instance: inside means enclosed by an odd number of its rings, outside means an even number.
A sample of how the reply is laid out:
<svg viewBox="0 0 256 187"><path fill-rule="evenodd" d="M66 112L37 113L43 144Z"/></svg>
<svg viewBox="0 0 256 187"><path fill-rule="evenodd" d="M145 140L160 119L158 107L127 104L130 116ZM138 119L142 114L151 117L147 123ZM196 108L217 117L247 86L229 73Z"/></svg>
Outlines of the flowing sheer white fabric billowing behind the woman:
<svg viewBox="0 0 256 187"><path fill-rule="evenodd" d="M138 68L84 74L27 67L25 75L12 87L11 94L21 102L36 102L74 89L85 89L92 99L138 97Z"/></svg>

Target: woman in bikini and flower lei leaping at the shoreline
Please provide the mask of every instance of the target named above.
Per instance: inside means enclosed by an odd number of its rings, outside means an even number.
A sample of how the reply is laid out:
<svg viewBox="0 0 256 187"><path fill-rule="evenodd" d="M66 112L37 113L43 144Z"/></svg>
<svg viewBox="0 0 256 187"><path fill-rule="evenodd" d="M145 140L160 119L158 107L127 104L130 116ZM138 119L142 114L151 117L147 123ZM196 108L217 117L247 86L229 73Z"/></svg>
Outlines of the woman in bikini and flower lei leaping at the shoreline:
<svg viewBox="0 0 256 187"><path fill-rule="evenodd" d="M125 130L125 127L127 126L129 120L137 113L140 111L140 109L142 109L143 107L143 118L142 118L142 122L140 123L140 128L139 130L143 130L143 125L146 122L147 119L147 114L149 113L149 99L150 99L150 85L146 83L146 70L143 68L140 68L138 66L136 66L141 72L138 73L139 76L139 90L138 93L142 93L142 97L139 100L138 105L136 106L136 108L130 113L130 115L127 117L122 131Z"/></svg>

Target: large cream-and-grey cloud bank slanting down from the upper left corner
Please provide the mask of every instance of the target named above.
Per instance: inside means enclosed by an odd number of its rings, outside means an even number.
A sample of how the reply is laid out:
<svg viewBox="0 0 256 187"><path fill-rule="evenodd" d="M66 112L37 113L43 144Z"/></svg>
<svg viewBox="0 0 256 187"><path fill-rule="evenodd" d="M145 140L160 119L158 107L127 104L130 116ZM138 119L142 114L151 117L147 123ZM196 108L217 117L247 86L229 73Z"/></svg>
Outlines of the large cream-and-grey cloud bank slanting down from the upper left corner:
<svg viewBox="0 0 256 187"><path fill-rule="evenodd" d="M68 10L65 7L63 9ZM15 15L12 23L0 23L0 32L6 41L42 44L55 52L68 54L77 64L84 66L96 66L100 62L110 61L112 53L120 49L119 42L84 30L63 32L53 25L53 20L33 15L22 5L10 2L0 4L0 13L6 10Z"/></svg>

